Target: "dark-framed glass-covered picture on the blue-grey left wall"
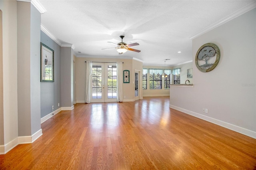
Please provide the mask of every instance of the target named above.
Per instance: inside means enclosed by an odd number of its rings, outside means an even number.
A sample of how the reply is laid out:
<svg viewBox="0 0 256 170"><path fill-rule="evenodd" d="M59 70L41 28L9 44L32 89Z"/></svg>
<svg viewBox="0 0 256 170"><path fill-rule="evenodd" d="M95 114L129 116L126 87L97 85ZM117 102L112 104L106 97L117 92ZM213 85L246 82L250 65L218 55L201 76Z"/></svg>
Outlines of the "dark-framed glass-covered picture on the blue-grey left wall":
<svg viewBox="0 0 256 170"><path fill-rule="evenodd" d="M54 50L41 43L41 82L54 82Z"/></svg>

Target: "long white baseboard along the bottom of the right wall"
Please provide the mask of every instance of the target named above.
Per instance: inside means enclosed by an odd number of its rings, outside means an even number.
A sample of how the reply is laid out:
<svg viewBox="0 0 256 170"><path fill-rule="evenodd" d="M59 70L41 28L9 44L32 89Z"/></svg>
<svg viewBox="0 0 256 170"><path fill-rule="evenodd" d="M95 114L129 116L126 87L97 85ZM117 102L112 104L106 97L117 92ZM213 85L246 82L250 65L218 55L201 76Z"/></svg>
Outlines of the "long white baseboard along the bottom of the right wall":
<svg viewBox="0 0 256 170"><path fill-rule="evenodd" d="M211 117L208 117L208 116L205 116L205 115L201 115L201 114L193 112L193 111L182 109L182 108L176 107L174 105L170 105L169 107L172 108L172 109L181 111L183 113L186 113L188 115L192 115L194 117L198 117L198 118L203 119L205 121L208 121L210 123L214 123L216 125L220 125L221 127L228 128L228 129L233 130L235 132L238 132L238 133L241 133L241 134L244 134L246 136L249 136L249 137L252 137L252 138L256 139L256 132L254 132L252 130L248 130L246 128L238 127L236 125L232 125L230 123L226 123L226 122L220 121L218 119L214 119L214 118L211 118Z"/></svg>

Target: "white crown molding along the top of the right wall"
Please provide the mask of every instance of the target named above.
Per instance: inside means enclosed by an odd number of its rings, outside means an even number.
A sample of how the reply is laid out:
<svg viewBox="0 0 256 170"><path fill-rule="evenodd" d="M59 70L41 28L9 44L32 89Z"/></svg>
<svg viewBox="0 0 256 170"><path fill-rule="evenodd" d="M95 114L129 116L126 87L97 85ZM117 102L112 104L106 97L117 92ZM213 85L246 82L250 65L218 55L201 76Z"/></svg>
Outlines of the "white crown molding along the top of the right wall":
<svg viewBox="0 0 256 170"><path fill-rule="evenodd" d="M256 1L253 1L251 2L250 4L244 6L244 8L241 8L240 10L237 10L236 12L230 14L229 16L223 18L222 20L218 21L218 22L215 22L214 24L206 27L205 29L201 30L200 32L198 32L196 35L190 37L191 40L193 40L194 38L197 38L199 36L201 36L202 34L205 34L206 32L222 25L222 24L225 24L226 22L230 21L230 20L233 20L234 18L252 10L256 8Z"/></svg>

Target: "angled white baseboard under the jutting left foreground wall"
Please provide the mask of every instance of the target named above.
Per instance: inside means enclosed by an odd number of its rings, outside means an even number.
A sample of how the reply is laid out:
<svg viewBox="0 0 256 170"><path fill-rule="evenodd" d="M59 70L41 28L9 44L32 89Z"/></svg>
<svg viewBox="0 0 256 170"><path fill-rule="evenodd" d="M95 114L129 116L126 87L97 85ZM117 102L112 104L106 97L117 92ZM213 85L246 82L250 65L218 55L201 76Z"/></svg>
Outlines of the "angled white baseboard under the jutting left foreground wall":
<svg viewBox="0 0 256 170"><path fill-rule="evenodd" d="M32 136L18 136L17 138L10 141L9 143L5 145L0 145L0 154L6 154L10 150L12 150L14 147L16 147L18 144L33 143L40 136L42 136L42 129L32 134Z"/></svg>

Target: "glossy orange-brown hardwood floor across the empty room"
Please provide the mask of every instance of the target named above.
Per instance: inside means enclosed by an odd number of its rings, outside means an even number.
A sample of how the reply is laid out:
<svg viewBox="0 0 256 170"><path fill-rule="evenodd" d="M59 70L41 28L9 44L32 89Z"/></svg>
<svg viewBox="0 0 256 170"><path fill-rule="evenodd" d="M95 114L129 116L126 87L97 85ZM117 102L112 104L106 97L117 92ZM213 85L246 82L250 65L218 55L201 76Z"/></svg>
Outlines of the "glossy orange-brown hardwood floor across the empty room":
<svg viewBox="0 0 256 170"><path fill-rule="evenodd" d="M169 108L169 97L75 105L0 155L1 170L256 168L256 139Z"/></svg>

